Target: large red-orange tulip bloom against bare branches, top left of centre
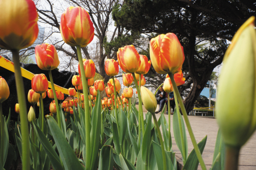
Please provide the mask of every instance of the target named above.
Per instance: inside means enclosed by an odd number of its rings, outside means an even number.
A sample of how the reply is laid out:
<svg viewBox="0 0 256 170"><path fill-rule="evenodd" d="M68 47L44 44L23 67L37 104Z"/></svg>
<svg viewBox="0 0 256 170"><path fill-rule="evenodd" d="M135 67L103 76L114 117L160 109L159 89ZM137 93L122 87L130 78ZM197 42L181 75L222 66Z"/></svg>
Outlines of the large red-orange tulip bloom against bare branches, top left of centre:
<svg viewBox="0 0 256 170"><path fill-rule="evenodd" d="M93 22L81 7L68 7L60 19L60 34L71 45L87 46L94 37Z"/></svg>

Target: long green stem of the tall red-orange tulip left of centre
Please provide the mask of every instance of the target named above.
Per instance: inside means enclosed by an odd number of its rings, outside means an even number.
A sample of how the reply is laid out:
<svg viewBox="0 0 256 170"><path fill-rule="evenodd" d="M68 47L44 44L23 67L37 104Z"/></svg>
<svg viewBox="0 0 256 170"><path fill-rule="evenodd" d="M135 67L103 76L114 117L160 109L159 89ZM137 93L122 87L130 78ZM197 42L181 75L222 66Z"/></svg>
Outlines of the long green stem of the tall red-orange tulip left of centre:
<svg viewBox="0 0 256 170"><path fill-rule="evenodd" d="M82 54L81 54L81 46L77 45L77 56L79 61L79 67L81 71L81 79L82 79L82 88L83 88L83 97L84 97L84 114L85 120L84 125L86 127L86 170L90 169L91 166L91 141L90 141L90 132L91 132L91 117L90 117L90 109L89 109L89 95L88 95L88 82L86 79L86 74L84 72L83 62L82 62Z"/></svg>

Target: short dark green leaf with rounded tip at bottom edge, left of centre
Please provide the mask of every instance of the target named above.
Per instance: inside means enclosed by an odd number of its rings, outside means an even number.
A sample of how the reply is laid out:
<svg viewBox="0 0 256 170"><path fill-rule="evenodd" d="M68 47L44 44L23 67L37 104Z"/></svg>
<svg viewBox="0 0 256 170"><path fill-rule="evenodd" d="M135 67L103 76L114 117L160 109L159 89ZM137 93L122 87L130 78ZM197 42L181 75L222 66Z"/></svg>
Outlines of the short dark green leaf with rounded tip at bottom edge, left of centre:
<svg viewBox="0 0 256 170"><path fill-rule="evenodd" d="M114 158L110 145L104 145L99 154L99 170L113 170Z"/></svg>

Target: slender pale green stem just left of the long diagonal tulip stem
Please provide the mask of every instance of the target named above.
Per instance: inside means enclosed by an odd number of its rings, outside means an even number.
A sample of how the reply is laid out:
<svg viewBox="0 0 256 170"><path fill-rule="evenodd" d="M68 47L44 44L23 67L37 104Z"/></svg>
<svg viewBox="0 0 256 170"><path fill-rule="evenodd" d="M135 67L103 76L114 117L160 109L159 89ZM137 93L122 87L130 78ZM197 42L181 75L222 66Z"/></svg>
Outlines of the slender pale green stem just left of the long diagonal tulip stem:
<svg viewBox="0 0 256 170"><path fill-rule="evenodd" d="M181 125L181 114L180 114L179 104L178 104L177 95L176 95L175 91L174 91L174 100L175 100L175 105L176 105L176 110L177 110L177 115L178 115L182 155L184 155L184 157L183 157L183 165L184 165L187 160L187 157L186 157L186 153L185 153L185 141L184 141L183 130L182 130L182 125Z"/></svg>

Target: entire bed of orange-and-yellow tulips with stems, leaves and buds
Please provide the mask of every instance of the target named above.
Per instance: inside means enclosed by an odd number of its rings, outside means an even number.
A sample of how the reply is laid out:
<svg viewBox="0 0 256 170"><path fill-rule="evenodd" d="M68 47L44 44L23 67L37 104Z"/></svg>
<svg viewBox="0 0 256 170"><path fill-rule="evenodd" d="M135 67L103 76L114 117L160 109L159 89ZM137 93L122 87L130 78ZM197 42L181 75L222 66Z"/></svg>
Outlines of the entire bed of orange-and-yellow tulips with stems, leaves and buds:
<svg viewBox="0 0 256 170"><path fill-rule="evenodd" d="M23 8L19 8L20 6ZM173 127L175 141L182 154L184 169L197 169L199 163L202 169L206 169L201 155L206 137L201 142L196 142L177 88L178 85L184 84L181 68L185 57L183 47L175 34L161 34L151 39L151 60L149 61L146 56L139 55L133 45L119 48L117 52L118 61L105 60L105 72L111 76L111 79L108 82L108 87L104 87L103 80L94 82L94 62L82 59L81 55L81 47L88 45L94 37L93 23L89 14L81 7L67 8L61 15L60 33L63 41L76 47L79 61L79 76L74 76L72 79L75 88L68 90L72 100L69 103L64 101L61 105L59 104L59 101L63 100L63 93L61 90L55 90L51 73L51 70L59 65L58 54L53 45L44 43L35 47L35 57L38 67L48 70L51 89L48 89L48 80L44 74L35 75L31 80L32 89L28 93L28 100L33 107L27 112L18 53L22 48L32 45L37 38L38 15L36 7L32 0L12 0L11 2L3 0L0 2L0 8L1 12L5 14L5 17L0 21L0 47L11 50L13 54L19 103L16 104L15 111L19 112L20 117L20 121L17 122L18 126L15 126L14 130L15 143L20 156L22 156L23 169L50 169L50 165L54 169L113 169L113 166L116 169L177 169L170 135L170 111L168 109L168 123L163 114L157 120L155 95L143 86L145 84L143 75L148 72L151 64L159 74L167 74L163 88L166 92L174 91L176 106L180 108L176 109L174 113ZM228 64L224 66L226 72L224 72L222 80L230 76L229 63L240 65L240 56L237 57L236 53L240 54L242 51L240 46L244 45L244 39L249 42L249 47L246 48L246 52L248 52L246 54L248 60L246 61L248 62L242 62L248 65L249 71L252 70L253 74L248 74L249 76L252 75L253 77L255 74L255 66L251 64L254 63L256 56L256 32L253 21L254 18L250 18L241 27L238 34L234 36L233 43L225 55L225 61ZM236 62L237 59L239 62ZM114 78L119 72L119 67L126 73L123 74L123 84L127 86L123 89L121 95L119 95L121 85ZM232 70L237 71L236 68ZM249 78L247 76L246 80L249 80ZM233 78L231 79L233 80ZM254 77L252 79L255 80ZM237 79L233 81L237 81ZM130 86L133 82L138 93L139 110L136 109L134 104L131 104L133 89ZM219 90L225 93L223 99L229 101L229 99L226 99L229 94L233 99L237 99L236 95L232 95L233 88L227 87L223 82L225 81L222 81L223 85ZM243 85L243 82L238 84ZM246 94L243 97L244 101L248 101L247 98L252 98L250 107L247 103L244 104L249 109L246 110L247 115L242 120L241 117L238 120L238 118L231 116L232 119L227 123L226 117L233 114L234 110L223 109L225 101L217 103L218 122L224 137L221 137L221 132L218 133L212 169L224 168L223 150L225 147L221 144L222 139L226 144L226 155L228 155L226 169L237 169L239 150L256 129L253 106L255 95L251 92L255 91L255 87L252 87L254 82L250 85L249 90L246 89L245 91L238 86L234 86L234 89L242 91L239 96ZM11 153L11 150L8 151L9 135L7 130L10 114L7 119L4 118L2 103L8 98L10 92L5 79L2 77L0 77L0 89L0 169L4 169L6 162L10 161L7 160L7 157L10 157L9 154ZM101 100L100 91L103 90L105 90L108 98ZM49 106L52 116L47 115L45 119L42 99L45 98L46 92L48 97L54 99L54 101ZM218 95L220 95L220 92ZM40 112L39 117L36 118L34 107L38 102ZM148 111L145 117L142 103ZM232 106L230 103L228 105ZM194 150L189 156L185 124L180 110L183 113L194 146ZM73 114L69 121L65 120L65 112ZM152 124L152 117L154 124ZM241 121L243 124L239 124ZM160 131L160 125L162 132ZM236 154L232 155L234 151ZM81 154L83 159L80 159ZM8 162L8 164L10 163Z"/></svg>

